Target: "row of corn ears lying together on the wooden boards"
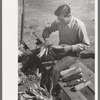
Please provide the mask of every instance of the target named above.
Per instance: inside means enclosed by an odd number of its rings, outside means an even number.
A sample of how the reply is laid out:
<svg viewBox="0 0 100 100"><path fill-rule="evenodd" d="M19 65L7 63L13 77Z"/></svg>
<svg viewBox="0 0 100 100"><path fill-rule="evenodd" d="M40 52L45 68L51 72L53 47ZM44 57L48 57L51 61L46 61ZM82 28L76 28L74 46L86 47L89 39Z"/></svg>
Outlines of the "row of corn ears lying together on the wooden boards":
<svg viewBox="0 0 100 100"><path fill-rule="evenodd" d="M82 69L80 67L73 67L60 72L61 78L59 81L65 83L64 87L72 87L75 91L80 90L91 82L83 77Z"/></svg>

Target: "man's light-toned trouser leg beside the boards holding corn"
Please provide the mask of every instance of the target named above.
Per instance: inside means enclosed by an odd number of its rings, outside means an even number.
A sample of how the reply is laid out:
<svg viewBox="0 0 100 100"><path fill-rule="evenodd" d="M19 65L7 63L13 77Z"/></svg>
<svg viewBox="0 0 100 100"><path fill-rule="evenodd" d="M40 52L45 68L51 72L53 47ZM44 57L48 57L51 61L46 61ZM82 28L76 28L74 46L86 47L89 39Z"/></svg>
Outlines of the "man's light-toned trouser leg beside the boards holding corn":
<svg viewBox="0 0 100 100"><path fill-rule="evenodd" d="M57 61L52 71L53 86L56 88L62 70L68 69L77 61L78 57L66 56Z"/></svg>

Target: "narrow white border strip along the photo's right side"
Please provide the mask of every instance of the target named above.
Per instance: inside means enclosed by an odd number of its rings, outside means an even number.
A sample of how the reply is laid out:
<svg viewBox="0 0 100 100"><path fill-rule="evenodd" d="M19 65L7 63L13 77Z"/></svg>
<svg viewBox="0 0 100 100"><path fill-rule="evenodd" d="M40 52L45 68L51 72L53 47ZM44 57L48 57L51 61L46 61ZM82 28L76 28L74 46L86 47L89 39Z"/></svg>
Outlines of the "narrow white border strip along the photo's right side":
<svg viewBox="0 0 100 100"><path fill-rule="evenodd" d="M95 100L98 100L98 0L95 0Z"/></svg>

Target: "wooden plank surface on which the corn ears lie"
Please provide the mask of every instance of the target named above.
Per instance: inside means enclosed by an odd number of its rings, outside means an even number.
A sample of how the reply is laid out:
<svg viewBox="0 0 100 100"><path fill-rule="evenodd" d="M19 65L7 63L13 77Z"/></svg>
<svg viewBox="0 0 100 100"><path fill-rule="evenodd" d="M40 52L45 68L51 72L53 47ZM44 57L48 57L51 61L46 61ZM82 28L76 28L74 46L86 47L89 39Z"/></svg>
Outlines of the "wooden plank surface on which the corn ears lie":
<svg viewBox="0 0 100 100"><path fill-rule="evenodd" d="M63 87L66 83L58 82L59 86L65 92L67 100L95 100L94 73L81 62L77 62L71 67L74 66L80 67L82 69L83 77L86 80L90 80L92 83L80 91L72 92L70 87Z"/></svg>

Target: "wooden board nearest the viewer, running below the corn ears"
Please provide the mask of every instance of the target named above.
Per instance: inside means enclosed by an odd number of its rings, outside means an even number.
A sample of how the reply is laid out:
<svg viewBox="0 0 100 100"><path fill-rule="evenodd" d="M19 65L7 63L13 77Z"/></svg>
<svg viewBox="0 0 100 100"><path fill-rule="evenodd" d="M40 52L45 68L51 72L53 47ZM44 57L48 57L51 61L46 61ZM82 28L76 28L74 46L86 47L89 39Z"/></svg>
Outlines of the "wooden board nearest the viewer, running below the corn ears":
<svg viewBox="0 0 100 100"><path fill-rule="evenodd" d="M66 83L58 82L58 84L70 98L69 100L88 100L80 91L72 92L70 87L63 87Z"/></svg>

